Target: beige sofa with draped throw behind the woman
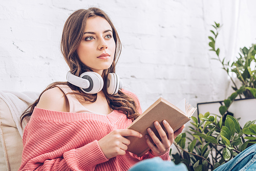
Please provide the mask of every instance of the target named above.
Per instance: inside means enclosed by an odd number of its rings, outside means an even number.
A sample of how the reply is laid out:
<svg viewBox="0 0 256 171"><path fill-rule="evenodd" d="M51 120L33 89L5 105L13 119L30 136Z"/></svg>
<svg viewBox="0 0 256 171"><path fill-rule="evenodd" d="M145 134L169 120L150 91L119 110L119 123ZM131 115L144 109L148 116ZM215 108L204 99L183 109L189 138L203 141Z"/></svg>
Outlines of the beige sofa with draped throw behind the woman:
<svg viewBox="0 0 256 171"><path fill-rule="evenodd" d="M36 92L0 91L0 170L18 170L23 151L19 117L38 96Z"/></svg>

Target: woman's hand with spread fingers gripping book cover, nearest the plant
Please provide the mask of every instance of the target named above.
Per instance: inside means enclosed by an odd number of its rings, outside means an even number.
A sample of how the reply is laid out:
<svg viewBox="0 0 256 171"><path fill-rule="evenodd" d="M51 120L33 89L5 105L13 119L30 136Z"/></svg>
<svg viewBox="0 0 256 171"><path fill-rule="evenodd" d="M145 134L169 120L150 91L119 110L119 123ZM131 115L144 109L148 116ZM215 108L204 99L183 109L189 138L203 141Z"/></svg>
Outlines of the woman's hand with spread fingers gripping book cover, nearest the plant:
<svg viewBox="0 0 256 171"><path fill-rule="evenodd" d="M151 136L156 146L150 141L150 138L147 135L145 135L145 138L147 145L151 148L151 153L154 156L160 156L168 151L170 145L173 144L174 139L182 132L185 125L181 126L180 129L174 132L169 123L166 120L163 120L163 125L167 131L167 134L164 132L158 121L154 122L154 125L158 131L159 136L161 137L161 141L150 128L147 129L147 132Z"/></svg>

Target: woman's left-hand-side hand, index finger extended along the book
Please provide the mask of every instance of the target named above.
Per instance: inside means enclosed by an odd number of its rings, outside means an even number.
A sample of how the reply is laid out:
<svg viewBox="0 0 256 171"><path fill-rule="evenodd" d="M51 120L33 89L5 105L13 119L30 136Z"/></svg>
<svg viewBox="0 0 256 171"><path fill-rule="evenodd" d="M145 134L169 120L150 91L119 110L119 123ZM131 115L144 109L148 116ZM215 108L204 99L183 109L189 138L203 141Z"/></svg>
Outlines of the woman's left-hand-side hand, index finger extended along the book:
<svg viewBox="0 0 256 171"><path fill-rule="evenodd" d="M141 138L142 134L134 130L114 130L98 141L106 158L111 159L118 155L125 155L127 146L130 144L130 140L124 138L125 136Z"/></svg>

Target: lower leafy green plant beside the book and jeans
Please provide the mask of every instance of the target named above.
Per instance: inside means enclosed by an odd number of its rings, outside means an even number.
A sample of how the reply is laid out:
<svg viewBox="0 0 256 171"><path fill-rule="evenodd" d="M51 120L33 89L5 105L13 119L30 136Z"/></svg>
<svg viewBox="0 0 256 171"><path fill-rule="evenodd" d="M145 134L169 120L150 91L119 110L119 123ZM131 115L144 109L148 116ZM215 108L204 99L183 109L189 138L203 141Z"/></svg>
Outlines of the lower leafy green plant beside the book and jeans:
<svg viewBox="0 0 256 171"><path fill-rule="evenodd" d="M238 120L230 115L225 122L223 117L209 113L199 118L201 122L192 117L188 136L182 133L175 139L179 153L173 155L174 162L185 163L188 170L214 170L256 143L256 120L246 122L241 129Z"/></svg>

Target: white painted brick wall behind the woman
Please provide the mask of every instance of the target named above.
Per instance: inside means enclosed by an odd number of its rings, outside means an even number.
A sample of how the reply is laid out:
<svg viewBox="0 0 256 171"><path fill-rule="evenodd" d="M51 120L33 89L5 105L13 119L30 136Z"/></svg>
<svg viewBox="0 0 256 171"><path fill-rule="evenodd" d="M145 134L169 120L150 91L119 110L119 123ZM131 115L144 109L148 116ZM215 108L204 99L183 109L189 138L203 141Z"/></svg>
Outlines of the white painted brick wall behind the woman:
<svg viewBox="0 0 256 171"><path fill-rule="evenodd" d="M209 29L222 23L221 56L237 56L255 43L256 2L208 0L20 1L0 0L0 90L39 91L65 81L59 50L67 17L96 6L112 18L123 49L117 73L145 110L160 95L177 103L223 100L227 75L210 58ZM230 56L231 55L231 56Z"/></svg>

